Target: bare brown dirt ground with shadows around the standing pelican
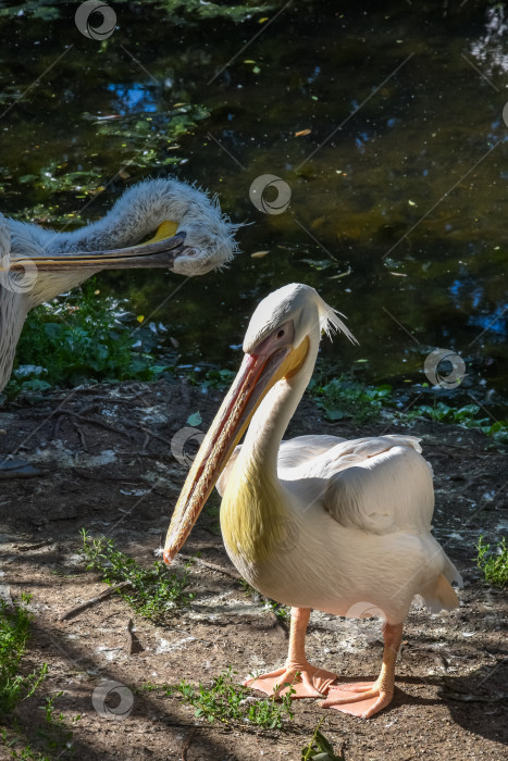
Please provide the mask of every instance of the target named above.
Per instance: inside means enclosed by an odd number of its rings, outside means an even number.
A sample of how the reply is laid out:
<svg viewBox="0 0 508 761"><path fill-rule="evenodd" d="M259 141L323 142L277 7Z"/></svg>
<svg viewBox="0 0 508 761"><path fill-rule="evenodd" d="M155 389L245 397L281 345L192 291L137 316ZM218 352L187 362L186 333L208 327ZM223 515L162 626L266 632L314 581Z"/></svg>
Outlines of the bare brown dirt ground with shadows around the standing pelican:
<svg viewBox="0 0 508 761"><path fill-rule="evenodd" d="M190 569L193 603L164 624L136 615L114 596L60 620L107 588L84 567L79 528L94 536L108 532L140 563L153 560L186 474L186 466L171 454L170 441L197 411L205 431L220 398L219 391L205 396L184 383L161 380L96 386L3 408L0 451L21 447L18 457L47 469L44 477L0 481L3 596L16 598L23 590L33 595L35 631L24 669L28 673L49 664L39 693L16 709L26 736L37 735L41 696L63 690L57 706L67 723L82 714L74 725L74 758L90 761L299 761L323 718L321 731L336 752L343 746L347 761L508 758L506 607L503 592L482 582L473 561L478 536L492 541L507 526L506 459L480 432L421 422L411 429L398 425L385 431L423 437L435 473L435 533L466 587L460 610L451 614L411 611L394 701L370 721L305 700L296 702L295 719L284 731L231 728L195 719L194 709L177 698L140 691L147 682L209 683L230 665L240 679L253 669L284 661L287 632L274 614L233 578L202 565ZM384 428L327 423L311 400L303 400L288 435L319 431L357 437ZM218 532L218 506L214 496L185 551L199 550L205 560L231 569ZM140 644L133 654L131 619ZM311 662L346 679L373 678L380 669L382 640L375 621L314 612L307 645ZM132 713L124 721L108 721L92 707L91 694L104 678L134 693ZM10 758L9 751L0 748L0 757ZM57 757L71 753L59 750Z"/></svg>

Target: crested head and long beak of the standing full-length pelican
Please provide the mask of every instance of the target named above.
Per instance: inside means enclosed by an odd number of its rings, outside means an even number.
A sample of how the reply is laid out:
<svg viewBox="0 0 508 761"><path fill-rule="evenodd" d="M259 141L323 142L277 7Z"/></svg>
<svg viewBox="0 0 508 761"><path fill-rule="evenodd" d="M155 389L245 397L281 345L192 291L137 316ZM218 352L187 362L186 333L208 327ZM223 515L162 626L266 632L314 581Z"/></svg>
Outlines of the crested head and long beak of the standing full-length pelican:
<svg viewBox="0 0 508 761"><path fill-rule="evenodd" d="M269 390L302 367L312 338L339 329L356 339L319 294L294 283L270 294L256 309L244 340L244 361L205 437L178 497L164 546L171 563Z"/></svg>

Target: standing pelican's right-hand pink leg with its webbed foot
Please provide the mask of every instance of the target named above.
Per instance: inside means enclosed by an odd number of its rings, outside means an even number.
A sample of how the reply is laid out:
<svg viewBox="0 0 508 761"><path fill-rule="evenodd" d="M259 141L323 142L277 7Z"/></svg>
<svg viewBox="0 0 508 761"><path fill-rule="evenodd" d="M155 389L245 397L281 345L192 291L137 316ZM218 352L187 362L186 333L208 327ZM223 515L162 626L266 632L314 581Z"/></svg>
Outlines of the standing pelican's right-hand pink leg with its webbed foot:
<svg viewBox="0 0 508 761"><path fill-rule="evenodd" d="M370 719L392 702L395 661L402 640L402 624L386 624L381 673L375 682L332 685L322 708L335 708L354 716Z"/></svg>

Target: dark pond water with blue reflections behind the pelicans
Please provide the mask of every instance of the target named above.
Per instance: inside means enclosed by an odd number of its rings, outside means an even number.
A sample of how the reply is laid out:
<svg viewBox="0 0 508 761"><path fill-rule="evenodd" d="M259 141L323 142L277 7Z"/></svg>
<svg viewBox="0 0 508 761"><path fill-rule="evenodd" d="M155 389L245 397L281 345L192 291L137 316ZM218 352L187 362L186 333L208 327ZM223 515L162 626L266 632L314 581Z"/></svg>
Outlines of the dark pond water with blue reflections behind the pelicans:
<svg viewBox="0 0 508 761"><path fill-rule="evenodd" d="M250 223L228 272L186 283L153 316L183 364L236 366L258 300L299 280L349 319L360 348L323 349L344 372L421 383L438 347L464 358L463 388L494 404L508 392L508 12L293 2L235 24L112 4L106 42L79 34L75 3L0 18L4 213L75 225L174 172ZM252 205L262 174L288 184L284 213ZM101 276L145 315L176 285Z"/></svg>

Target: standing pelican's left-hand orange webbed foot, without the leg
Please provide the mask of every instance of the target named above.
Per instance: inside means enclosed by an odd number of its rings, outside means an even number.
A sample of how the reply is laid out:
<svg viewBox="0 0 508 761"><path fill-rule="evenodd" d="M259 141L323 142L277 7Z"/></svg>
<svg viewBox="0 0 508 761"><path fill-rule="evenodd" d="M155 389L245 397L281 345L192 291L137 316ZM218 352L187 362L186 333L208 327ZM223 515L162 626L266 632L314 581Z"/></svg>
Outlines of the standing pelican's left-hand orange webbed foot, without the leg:
<svg viewBox="0 0 508 761"><path fill-rule="evenodd" d="M245 687L260 689L267 695L275 695L277 698L286 695L292 687L296 690L292 698L322 698L326 695L330 685L337 679L336 674L323 669L317 669L305 663L301 665L287 665L268 674L261 674L253 679L246 679Z"/></svg>

